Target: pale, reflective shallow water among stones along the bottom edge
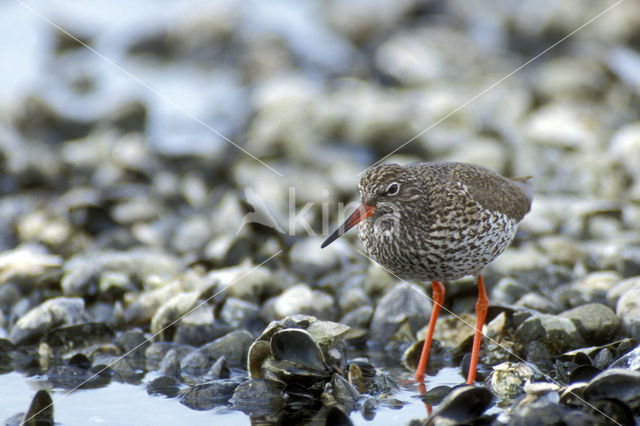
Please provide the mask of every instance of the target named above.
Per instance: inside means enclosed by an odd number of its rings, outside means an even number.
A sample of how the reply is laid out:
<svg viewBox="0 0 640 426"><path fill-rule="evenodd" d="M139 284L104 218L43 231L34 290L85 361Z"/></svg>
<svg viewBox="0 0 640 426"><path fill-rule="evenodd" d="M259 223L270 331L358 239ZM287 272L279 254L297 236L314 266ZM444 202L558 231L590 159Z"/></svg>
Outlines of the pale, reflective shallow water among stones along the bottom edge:
<svg viewBox="0 0 640 426"><path fill-rule="evenodd" d="M443 368L436 376L428 377L427 389L439 385L456 385L463 379L457 368ZM406 372L406 377L411 374ZM0 420L4 421L18 412L24 412L35 392L40 389L35 377L24 377L19 373L0 376ZM400 409L380 406L373 420L366 420L355 411L350 417L356 425L387 425L398 421L401 413L403 423L410 419L427 417L422 401L417 398L415 385L403 388L394 395L405 405ZM73 426L87 424L125 425L135 421L138 425L218 425L251 424L249 416L226 407L209 411L195 411L182 405L178 399L149 396L143 385L113 382L100 389L78 390L65 394L62 390L52 392L54 416L57 425Z"/></svg>

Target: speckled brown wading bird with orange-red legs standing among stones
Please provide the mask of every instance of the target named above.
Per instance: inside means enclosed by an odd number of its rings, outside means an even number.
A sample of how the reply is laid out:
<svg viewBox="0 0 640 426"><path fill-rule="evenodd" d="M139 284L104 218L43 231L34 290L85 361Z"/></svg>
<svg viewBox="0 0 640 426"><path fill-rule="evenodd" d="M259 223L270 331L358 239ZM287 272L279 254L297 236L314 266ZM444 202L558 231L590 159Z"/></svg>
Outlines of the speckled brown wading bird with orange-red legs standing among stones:
<svg viewBox="0 0 640 426"><path fill-rule="evenodd" d="M443 282L473 276L478 299L467 384L474 384L489 306L482 273L531 210L531 176L506 178L460 162L384 163L362 174L358 191L360 206L321 247L358 225L358 237L377 263L398 278L431 282L434 303L415 372L419 383L444 302Z"/></svg>

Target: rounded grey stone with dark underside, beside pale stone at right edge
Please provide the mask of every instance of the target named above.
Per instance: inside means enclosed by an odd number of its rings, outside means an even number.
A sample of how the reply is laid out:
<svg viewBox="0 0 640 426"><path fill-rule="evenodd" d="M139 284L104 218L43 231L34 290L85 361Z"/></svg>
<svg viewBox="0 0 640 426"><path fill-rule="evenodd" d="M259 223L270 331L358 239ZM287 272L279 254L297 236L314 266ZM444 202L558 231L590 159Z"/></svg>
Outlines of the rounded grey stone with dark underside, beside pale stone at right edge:
<svg viewBox="0 0 640 426"><path fill-rule="evenodd" d="M588 345L600 345L611 341L618 331L619 320L606 305L589 303L560 314L573 322Z"/></svg>

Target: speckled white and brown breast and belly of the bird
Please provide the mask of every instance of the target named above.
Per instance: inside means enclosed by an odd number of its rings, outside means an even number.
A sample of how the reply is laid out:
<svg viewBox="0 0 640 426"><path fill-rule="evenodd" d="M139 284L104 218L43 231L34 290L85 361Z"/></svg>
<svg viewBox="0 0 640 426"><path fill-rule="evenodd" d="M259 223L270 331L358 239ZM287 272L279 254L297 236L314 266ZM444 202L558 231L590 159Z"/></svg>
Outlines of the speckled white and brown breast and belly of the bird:
<svg viewBox="0 0 640 426"><path fill-rule="evenodd" d="M358 236L369 255L400 278L448 281L481 271L516 230L506 215L476 209L422 221L372 216L360 223Z"/></svg>

